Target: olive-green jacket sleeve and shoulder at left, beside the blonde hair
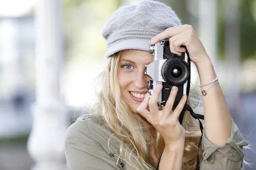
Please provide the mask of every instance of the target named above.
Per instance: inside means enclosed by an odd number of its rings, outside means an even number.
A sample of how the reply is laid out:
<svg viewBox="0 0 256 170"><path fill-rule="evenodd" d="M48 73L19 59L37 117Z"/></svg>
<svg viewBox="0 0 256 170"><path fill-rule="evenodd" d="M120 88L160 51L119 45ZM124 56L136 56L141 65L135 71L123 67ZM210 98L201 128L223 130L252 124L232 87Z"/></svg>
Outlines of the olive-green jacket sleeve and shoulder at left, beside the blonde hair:
<svg viewBox="0 0 256 170"><path fill-rule="evenodd" d="M92 138L83 121L67 129L65 155L67 170L121 170L121 165L116 165L101 144Z"/></svg>

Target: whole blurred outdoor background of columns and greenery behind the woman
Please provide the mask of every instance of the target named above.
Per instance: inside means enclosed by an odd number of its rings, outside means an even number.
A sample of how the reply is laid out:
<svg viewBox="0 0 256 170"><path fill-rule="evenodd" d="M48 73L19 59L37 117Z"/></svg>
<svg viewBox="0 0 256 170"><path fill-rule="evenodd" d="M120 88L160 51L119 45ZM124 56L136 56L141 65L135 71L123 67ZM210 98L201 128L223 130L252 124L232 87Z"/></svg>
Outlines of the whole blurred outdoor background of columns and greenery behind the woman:
<svg viewBox="0 0 256 170"><path fill-rule="evenodd" d="M256 144L256 0L159 1L194 27L234 122ZM139 2L0 0L0 170L66 169L65 131L90 109L105 65L101 29L119 6ZM192 79L199 85L193 65ZM244 156L256 161L253 150Z"/></svg>

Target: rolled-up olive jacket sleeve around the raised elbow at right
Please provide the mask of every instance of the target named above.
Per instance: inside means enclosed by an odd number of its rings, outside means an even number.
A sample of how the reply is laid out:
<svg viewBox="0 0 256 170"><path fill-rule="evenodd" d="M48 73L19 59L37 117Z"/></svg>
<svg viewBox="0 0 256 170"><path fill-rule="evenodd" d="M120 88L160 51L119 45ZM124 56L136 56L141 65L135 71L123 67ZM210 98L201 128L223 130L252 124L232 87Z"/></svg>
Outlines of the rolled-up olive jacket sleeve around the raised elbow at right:
<svg viewBox="0 0 256 170"><path fill-rule="evenodd" d="M243 147L249 143L243 138L238 127L232 122L230 138L218 146L212 144L203 132L204 153L200 170L244 170Z"/></svg>

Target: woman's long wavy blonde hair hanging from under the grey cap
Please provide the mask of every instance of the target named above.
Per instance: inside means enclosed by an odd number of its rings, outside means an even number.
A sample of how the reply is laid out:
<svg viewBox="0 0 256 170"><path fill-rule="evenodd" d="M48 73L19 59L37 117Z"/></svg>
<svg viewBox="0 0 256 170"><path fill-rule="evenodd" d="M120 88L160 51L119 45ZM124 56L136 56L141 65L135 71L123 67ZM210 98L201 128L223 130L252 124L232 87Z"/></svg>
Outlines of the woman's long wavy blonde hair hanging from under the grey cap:
<svg viewBox="0 0 256 170"><path fill-rule="evenodd" d="M118 159L125 161L134 170L153 170L152 166L156 168L159 160L156 162L151 157L148 145L154 146L154 153L157 153L159 158L165 144L163 137L150 123L148 123L150 129L142 124L143 118L140 113L134 111L121 95L117 79L121 53L122 51L108 58L107 67L99 75L99 83L97 83L99 89L96 89L97 101L90 112L83 114L79 119L95 118L101 122L103 127L121 140L119 153L118 155L115 154ZM190 85L187 104L195 113L204 113L201 93L192 84ZM198 151L200 163L202 161L202 143L198 147L201 130L198 120L195 120L188 111L185 112L182 126L186 130L182 170L192 170L196 168ZM108 140L109 149L110 140L111 137ZM128 153L127 147L131 148L131 152L135 153L135 156ZM136 164L132 161L132 157L137 160Z"/></svg>

